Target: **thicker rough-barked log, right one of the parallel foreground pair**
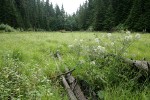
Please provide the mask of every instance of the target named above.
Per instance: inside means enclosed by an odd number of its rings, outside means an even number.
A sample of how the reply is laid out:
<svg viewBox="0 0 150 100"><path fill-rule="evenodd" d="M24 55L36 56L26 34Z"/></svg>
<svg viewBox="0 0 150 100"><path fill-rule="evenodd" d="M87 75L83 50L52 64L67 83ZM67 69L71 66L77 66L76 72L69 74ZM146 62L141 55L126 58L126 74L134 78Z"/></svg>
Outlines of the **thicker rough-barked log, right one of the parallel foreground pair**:
<svg viewBox="0 0 150 100"><path fill-rule="evenodd" d="M67 68L66 68L66 71L68 72ZM77 80L70 73L68 73L66 75L66 77L67 77L68 83L70 84L70 88L73 90L77 99L78 100L87 100L86 97L84 96L80 86L77 84Z"/></svg>

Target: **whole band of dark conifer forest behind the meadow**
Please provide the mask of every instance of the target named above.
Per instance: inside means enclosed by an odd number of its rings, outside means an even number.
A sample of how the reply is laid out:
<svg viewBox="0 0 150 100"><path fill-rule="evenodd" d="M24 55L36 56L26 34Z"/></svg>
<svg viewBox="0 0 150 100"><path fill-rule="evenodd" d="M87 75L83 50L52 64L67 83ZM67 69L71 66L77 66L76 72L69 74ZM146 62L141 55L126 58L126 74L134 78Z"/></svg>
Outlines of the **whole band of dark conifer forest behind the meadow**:
<svg viewBox="0 0 150 100"><path fill-rule="evenodd" d="M73 15L50 0L0 0L1 23L37 31L150 32L150 0L87 0Z"/></svg>

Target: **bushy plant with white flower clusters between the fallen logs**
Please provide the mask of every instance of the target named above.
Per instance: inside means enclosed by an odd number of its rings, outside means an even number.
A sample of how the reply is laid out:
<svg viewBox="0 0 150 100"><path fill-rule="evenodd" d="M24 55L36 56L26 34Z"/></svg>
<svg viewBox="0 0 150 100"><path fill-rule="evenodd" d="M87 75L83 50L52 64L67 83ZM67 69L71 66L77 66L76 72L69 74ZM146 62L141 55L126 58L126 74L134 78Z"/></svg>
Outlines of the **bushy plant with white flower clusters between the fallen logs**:
<svg viewBox="0 0 150 100"><path fill-rule="evenodd" d="M139 89L138 81L133 81L139 71L129 67L123 61L128 53L128 47L139 38L140 34L132 35L130 32L120 36L108 33L101 36L96 35L94 39L88 41L79 39L76 40L76 44L68 46L70 52L77 56L77 58L74 56L75 59L73 59L77 62L76 69L81 72L77 75L79 79L87 82L88 91L98 93L98 91L105 91L106 88L118 87L122 84L124 88Z"/></svg>

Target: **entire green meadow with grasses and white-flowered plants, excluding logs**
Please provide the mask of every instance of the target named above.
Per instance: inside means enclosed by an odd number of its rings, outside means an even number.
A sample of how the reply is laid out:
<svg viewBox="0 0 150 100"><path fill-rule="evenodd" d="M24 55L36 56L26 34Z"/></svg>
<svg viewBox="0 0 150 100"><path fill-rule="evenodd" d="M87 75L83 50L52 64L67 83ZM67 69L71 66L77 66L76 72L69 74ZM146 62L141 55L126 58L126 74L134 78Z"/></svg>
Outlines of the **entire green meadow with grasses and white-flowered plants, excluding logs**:
<svg viewBox="0 0 150 100"><path fill-rule="evenodd" d="M62 72L75 68L73 76L89 100L148 100L149 74L137 78L140 71L121 58L150 61L149 38L130 32L0 33L0 99L68 100L55 78L58 63Z"/></svg>

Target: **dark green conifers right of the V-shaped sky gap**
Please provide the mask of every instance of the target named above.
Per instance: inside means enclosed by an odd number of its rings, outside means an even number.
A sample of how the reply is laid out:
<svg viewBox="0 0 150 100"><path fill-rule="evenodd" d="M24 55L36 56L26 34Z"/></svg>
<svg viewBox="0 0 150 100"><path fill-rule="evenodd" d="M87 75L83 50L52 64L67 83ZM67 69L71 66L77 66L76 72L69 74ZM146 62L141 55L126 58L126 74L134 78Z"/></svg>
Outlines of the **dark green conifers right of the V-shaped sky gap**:
<svg viewBox="0 0 150 100"><path fill-rule="evenodd" d="M149 0L88 0L76 12L78 28L114 31L124 24L130 30L149 32L149 4Z"/></svg>

